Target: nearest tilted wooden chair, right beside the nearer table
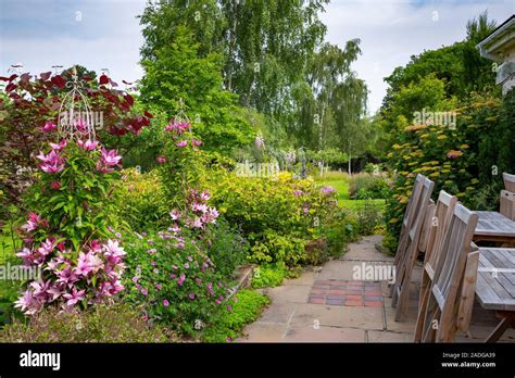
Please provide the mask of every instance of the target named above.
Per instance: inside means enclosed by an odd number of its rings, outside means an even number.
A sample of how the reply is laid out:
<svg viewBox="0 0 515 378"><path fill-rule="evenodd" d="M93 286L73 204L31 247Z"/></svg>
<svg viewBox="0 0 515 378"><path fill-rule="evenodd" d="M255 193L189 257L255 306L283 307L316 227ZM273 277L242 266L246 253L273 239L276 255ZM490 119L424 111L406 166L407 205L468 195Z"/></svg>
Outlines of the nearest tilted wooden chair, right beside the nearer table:
<svg viewBox="0 0 515 378"><path fill-rule="evenodd" d="M422 341L451 342L457 329L468 330L479 262L472 243L477 219L477 214L459 203L444 227L430 294L418 310Z"/></svg>

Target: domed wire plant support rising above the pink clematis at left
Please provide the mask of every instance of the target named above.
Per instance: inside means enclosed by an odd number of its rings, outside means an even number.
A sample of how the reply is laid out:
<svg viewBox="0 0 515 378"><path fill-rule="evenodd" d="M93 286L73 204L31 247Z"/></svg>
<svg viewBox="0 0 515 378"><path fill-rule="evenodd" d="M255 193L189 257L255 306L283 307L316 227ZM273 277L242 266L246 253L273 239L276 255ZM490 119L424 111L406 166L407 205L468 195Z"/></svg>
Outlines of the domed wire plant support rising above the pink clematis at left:
<svg viewBox="0 0 515 378"><path fill-rule="evenodd" d="M59 139L95 140L93 114L84 94L83 83L78 79L77 68L72 70L72 80L66 83L70 91L64 96L59 108L58 136Z"/></svg>

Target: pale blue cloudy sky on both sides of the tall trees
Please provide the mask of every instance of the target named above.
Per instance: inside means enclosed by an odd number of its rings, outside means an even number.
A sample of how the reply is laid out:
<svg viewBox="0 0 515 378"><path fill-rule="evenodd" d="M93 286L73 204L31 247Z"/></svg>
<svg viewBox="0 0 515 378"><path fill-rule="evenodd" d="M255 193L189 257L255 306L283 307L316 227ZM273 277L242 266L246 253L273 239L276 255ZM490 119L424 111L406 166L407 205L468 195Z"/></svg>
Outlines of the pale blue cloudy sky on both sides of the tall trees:
<svg viewBox="0 0 515 378"><path fill-rule="evenodd" d="M280 0L279 0L280 1ZM137 15L145 0L0 0L0 76L13 64L33 74L75 63L117 83L135 81L143 71L143 43ZM384 77L424 50L465 38L467 20L488 10L503 22L515 13L515 0L332 0L322 14L326 40L344 47L361 40L353 64L369 90L368 110L381 104Z"/></svg>

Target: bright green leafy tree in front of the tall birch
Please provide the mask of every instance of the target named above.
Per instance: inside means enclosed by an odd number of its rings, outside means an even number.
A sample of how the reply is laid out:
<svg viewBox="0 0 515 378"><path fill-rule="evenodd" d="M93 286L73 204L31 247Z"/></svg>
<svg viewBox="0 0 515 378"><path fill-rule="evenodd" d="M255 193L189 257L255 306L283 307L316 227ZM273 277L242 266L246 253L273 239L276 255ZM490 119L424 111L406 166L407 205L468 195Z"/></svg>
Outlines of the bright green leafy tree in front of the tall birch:
<svg viewBox="0 0 515 378"><path fill-rule="evenodd" d="M185 26L175 32L172 42L155 49L153 59L141 61L146 75L140 99L168 117L183 111L181 99L205 149L229 154L249 143L254 131L237 106L237 97L222 89L223 59L216 53L199 56L191 33Z"/></svg>

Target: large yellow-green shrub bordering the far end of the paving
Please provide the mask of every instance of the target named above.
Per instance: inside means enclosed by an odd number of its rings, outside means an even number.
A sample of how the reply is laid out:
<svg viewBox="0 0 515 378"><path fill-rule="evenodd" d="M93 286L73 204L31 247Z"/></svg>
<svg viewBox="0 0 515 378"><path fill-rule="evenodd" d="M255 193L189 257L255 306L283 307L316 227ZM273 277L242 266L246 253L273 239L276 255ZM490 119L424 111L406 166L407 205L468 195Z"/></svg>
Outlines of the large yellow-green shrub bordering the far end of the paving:
<svg viewBox="0 0 515 378"><path fill-rule="evenodd" d="M289 173L276 178L227 174L211 186L213 203L249 240L251 262L297 266L324 261L326 251L313 259L306 245L324 239L327 254L337 254L351 234L336 190L316 188L311 179L294 179Z"/></svg>

